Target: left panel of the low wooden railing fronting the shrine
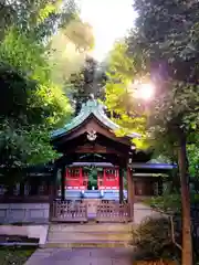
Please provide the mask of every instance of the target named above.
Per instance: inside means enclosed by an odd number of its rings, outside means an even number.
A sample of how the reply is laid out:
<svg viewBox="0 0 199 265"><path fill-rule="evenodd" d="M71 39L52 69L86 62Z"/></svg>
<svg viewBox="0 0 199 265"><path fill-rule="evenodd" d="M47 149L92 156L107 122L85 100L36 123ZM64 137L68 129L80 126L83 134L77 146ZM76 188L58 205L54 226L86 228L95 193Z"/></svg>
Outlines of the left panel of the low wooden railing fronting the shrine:
<svg viewBox="0 0 199 265"><path fill-rule="evenodd" d="M87 206L84 202L53 201L51 211L53 222L86 222Z"/></svg>

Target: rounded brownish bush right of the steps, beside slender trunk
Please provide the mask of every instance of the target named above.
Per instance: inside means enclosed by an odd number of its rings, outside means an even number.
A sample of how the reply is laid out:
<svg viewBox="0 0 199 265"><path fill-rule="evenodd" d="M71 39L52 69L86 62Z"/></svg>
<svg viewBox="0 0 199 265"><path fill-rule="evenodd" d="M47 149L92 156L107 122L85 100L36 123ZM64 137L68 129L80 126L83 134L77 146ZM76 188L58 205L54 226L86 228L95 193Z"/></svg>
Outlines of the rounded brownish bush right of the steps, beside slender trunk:
<svg viewBox="0 0 199 265"><path fill-rule="evenodd" d="M132 244L137 248L136 261L180 259L180 252L171 241L170 222L166 218L144 220L133 231Z"/></svg>

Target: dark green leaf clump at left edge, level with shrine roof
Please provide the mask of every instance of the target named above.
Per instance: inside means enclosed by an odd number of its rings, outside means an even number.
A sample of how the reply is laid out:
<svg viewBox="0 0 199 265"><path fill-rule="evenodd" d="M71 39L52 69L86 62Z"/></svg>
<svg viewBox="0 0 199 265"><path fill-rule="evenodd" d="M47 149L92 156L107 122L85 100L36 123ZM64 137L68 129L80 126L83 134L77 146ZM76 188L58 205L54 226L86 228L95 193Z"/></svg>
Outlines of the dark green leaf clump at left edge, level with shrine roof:
<svg viewBox="0 0 199 265"><path fill-rule="evenodd" d="M0 165L8 169L45 163L59 157L50 145L50 131L45 127L15 128L8 121L1 126L0 150Z"/></svg>

